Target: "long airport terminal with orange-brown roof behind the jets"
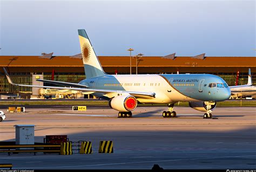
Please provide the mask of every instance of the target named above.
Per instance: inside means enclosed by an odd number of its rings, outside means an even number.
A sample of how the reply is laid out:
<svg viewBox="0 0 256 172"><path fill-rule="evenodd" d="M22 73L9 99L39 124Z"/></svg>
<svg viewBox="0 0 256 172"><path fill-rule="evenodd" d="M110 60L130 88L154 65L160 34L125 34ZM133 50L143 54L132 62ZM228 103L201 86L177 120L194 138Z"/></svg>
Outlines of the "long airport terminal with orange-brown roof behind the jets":
<svg viewBox="0 0 256 172"><path fill-rule="evenodd" d="M99 56L99 61L107 74L130 74L130 56ZM220 56L142 56L132 58L132 74L214 74L222 77L228 85L246 84L248 68L251 68L253 83L256 83L256 57ZM75 56L0 56L0 94L38 95L39 89L15 87L4 76L5 67L12 80L21 84L43 84L37 78L78 83L86 78L80 54ZM239 71L239 77L237 73ZM41 90L42 91L42 90ZM34 93L33 93L34 92ZM37 93L35 93L37 92ZM24 98L24 96L23 96Z"/></svg>

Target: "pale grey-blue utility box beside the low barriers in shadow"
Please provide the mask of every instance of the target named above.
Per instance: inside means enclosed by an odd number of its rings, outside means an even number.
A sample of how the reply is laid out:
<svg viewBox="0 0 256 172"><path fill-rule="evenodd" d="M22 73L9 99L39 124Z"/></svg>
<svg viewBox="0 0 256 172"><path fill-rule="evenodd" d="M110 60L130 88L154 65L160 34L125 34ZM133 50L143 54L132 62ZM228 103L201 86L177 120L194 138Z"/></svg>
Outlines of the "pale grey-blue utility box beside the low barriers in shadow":
<svg viewBox="0 0 256 172"><path fill-rule="evenodd" d="M14 125L16 145L35 145L35 125Z"/></svg>

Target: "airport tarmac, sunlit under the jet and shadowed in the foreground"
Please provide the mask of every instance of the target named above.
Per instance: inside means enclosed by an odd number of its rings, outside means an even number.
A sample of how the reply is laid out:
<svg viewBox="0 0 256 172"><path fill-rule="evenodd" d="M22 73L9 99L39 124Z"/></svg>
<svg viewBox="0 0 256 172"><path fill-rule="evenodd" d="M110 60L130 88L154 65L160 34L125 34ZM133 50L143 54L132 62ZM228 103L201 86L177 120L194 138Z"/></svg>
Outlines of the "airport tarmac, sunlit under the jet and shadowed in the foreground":
<svg viewBox="0 0 256 172"><path fill-rule="evenodd" d="M68 135L70 141L92 142L92 154L0 154L13 169L256 169L256 107L217 107L214 119L190 107L174 107L177 118L163 118L167 107L137 107L133 118L117 111L72 106L25 109L7 113L0 123L0 141L15 141L17 124L34 124L35 141L45 135ZM99 154L99 141L112 140L112 154Z"/></svg>

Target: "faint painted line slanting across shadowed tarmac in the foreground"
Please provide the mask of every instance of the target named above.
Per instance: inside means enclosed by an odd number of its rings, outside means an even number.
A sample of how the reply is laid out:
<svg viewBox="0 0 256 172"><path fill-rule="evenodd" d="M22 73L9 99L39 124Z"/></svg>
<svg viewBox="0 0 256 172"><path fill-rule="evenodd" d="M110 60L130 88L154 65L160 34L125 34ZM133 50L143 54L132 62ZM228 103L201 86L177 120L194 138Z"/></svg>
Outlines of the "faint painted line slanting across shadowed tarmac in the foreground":
<svg viewBox="0 0 256 172"><path fill-rule="evenodd" d="M92 166L110 166L119 164L133 164L133 163L156 163L156 162L170 162L170 161L191 161L191 160L209 160L209 159L223 159L231 157L253 157L256 155L245 155L245 156L220 156L220 157L202 157L193 159L177 159L177 160L158 160L158 161L139 161L139 162L120 162L120 163L103 163L103 164L93 164L93 165L82 165L82 166L56 166L56 167L23 167L16 169L44 169L44 168L68 168L68 167L92 167Z"/></svg>

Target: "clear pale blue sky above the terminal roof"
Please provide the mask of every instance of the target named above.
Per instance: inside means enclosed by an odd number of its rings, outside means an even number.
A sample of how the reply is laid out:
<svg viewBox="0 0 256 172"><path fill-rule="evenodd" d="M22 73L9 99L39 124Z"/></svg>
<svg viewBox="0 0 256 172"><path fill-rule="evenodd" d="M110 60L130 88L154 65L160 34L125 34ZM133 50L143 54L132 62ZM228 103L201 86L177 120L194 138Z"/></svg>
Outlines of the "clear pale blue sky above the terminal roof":
<svg viewBox="0 0 256 172"><path fill-rule="evenodd" d="M99 56L256 56L256 3L0 0L0 55L76 55L84 28Z"/></svg>

